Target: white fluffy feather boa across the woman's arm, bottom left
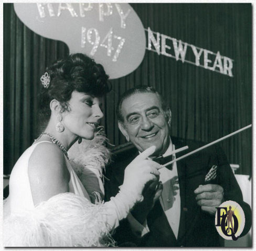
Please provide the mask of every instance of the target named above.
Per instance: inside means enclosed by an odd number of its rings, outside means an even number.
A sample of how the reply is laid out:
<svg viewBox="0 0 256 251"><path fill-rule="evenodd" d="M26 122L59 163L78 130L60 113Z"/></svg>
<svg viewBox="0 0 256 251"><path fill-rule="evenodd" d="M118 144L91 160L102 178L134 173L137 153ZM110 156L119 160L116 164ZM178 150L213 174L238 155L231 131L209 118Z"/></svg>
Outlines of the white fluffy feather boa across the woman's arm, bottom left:
<svg viewBox="0 0 256 251"><path fill-rule="evenodd" d="M114 246L105 206L74 193L60 193L3 222L5 247Z"/></svg>

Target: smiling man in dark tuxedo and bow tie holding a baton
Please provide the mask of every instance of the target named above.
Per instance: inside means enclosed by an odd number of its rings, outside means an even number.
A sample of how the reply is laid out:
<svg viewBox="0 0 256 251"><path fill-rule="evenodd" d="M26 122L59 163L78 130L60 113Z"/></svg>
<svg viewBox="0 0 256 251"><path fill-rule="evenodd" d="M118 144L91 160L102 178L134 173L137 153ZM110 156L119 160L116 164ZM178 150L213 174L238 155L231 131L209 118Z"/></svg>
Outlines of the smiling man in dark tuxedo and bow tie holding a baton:
<svg viewBox="0 0 256 251"><path fill-rule="evenodd" d="M125 167L148 147L156 146L154 156L151 156L155 159L189 146L186 151L172 154L174 159L202 145L170 138L170 109L151 87L137 87L124 93L117 114L119 129L137 150L121 154L107 168L106 200L118 192ZM118 245L220 246L215 212L216 207L226 200L234 200L243 208L247 224L244 234L249 231L250 206L243 202L226 156L216 145L163 167L159 172L159 182L147 184L144 200L116 230L114 238Z"/></svg>

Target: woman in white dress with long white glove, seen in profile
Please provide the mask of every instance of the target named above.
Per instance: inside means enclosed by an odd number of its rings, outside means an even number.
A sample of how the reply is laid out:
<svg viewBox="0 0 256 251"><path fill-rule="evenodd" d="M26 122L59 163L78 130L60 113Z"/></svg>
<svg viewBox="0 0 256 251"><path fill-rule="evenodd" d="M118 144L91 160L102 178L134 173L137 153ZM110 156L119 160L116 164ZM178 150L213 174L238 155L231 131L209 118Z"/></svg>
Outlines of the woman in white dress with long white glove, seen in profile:
<svg viewBox="0 0 256 251"><path fill-rule="evenodd" d="M145 183L159 165L144 151L125 170L120 192L93 204L68 161L77 140L92 140L103 117L101 97L110 88L102 65L72 54L41 77L40 118L44 131L15 164L4 203L5 246L109 246L109 234L142 200Z"/></svg>

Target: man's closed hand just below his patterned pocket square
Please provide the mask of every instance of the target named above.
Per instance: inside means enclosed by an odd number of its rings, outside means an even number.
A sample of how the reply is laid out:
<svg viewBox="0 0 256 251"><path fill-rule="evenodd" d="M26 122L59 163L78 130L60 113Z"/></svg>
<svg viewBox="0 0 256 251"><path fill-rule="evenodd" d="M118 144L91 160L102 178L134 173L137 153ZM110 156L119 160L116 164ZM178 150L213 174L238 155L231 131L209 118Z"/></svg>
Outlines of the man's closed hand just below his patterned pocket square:
<svg viewBox="0 0 256 251"><path fill-rule="evenodd" d="M214 215L216 207L223 202L223 188L219 185L200 185L195 191L197 204L202 211Z"/></svg>

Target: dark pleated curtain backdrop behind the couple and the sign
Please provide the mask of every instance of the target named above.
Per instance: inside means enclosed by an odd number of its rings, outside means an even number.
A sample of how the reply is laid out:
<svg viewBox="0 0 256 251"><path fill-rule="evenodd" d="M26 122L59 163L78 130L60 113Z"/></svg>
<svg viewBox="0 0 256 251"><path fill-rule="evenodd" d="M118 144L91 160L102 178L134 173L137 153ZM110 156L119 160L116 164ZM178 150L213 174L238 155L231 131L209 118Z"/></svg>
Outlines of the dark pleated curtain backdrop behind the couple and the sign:
<svg viewBox="0 0 256 251"><path fill-rule="evenodd" d="M252 122L251 4L131 4L144 28L220 51L233 59L233 77L176 61L146 50L131 74L112 80L102 121L112 144L125 143L117 127L115 105L126 89L155 87L172 110L172 135L210 142ZM42 38L4 4L4 173L33 142L37 131L37 91L46 65L68 54L59 41ZM219 143L238 174L251 175L251 129Z"/></svg>

